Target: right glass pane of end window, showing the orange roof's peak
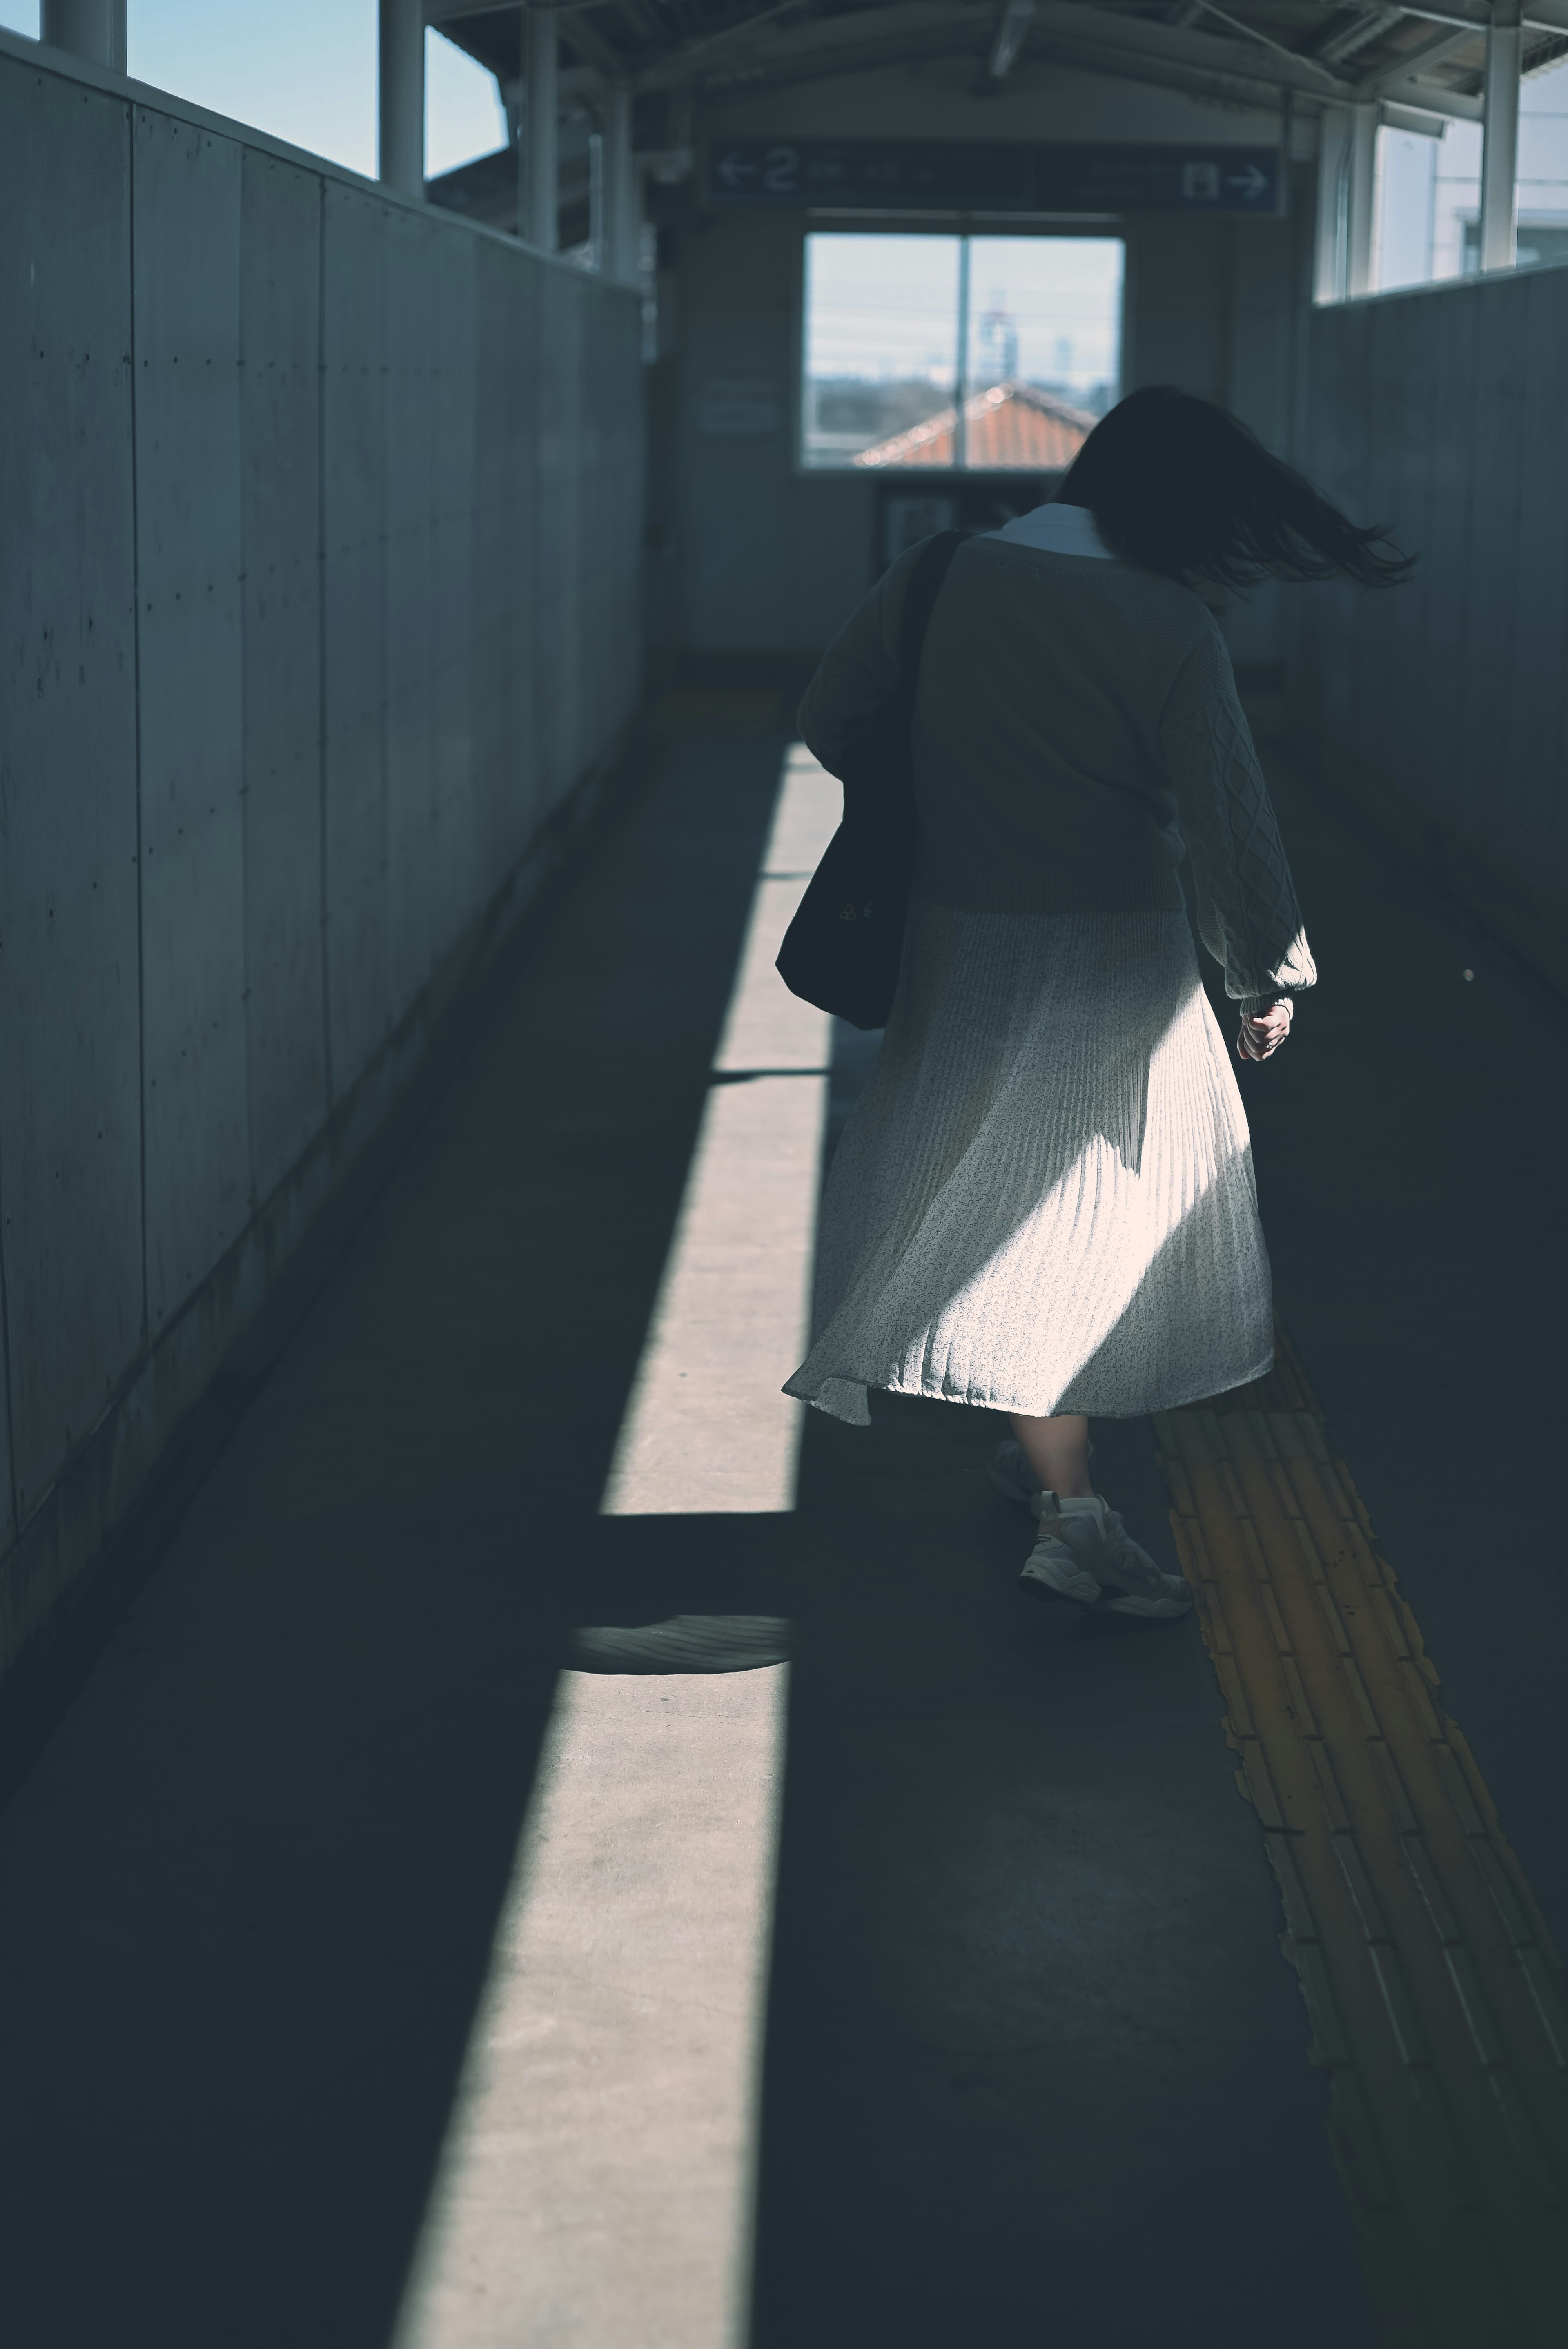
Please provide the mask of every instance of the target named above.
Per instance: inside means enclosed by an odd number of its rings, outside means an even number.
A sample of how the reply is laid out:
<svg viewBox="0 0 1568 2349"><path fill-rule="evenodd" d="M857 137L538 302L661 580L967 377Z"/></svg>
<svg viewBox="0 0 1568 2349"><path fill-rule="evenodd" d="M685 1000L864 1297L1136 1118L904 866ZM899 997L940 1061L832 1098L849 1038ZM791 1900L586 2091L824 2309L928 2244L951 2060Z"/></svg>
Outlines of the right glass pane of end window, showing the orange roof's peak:
<svg viewBox="0 0 1568 2349"><path fill-rule="evenodd" d="M1120 237L972 237L965 460L1070 465L1122 371Z"/></svg>

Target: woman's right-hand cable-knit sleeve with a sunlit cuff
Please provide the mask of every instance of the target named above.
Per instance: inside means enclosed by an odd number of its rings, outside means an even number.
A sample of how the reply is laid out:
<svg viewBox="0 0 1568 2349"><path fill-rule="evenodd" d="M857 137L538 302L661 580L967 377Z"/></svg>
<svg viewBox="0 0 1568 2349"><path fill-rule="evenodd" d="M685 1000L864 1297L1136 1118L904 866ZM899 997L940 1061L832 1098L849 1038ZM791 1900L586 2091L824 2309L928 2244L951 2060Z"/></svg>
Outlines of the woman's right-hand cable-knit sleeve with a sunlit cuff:
<svg viewBox="0 0 1568 2349"><path fill-rule="evenodd" d="M1197 881L1197 930L1242 1012L1317 980L1275 808L1237 700L1225 639L1188 653L1160 719L1181 832Z"/></svg>

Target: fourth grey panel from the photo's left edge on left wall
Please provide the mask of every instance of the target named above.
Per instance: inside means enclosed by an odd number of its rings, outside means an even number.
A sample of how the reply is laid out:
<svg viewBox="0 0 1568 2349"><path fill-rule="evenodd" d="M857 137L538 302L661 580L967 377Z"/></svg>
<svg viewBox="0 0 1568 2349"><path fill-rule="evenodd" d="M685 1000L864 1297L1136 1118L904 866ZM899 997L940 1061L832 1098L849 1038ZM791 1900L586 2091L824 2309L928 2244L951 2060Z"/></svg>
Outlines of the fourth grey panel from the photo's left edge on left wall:
<svg viewBox="0 0 1568 2349"><path fill-rule="evenodd" d="M387 209L326 186L322 491L326 1034L338 1099L392 1024L387 918Z"/></svg>

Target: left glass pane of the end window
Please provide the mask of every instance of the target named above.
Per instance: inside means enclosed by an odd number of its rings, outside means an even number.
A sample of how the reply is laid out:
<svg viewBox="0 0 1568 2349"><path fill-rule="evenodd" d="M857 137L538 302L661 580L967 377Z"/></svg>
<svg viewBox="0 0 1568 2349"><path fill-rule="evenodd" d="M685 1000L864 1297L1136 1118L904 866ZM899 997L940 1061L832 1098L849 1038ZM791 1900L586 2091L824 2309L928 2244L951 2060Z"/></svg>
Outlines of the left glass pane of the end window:
<svg viewBox="0 0 1568 2349"><path fill-rule="evenodd" d="M958 237L805 240L805 465L951 465Z"/></svg>

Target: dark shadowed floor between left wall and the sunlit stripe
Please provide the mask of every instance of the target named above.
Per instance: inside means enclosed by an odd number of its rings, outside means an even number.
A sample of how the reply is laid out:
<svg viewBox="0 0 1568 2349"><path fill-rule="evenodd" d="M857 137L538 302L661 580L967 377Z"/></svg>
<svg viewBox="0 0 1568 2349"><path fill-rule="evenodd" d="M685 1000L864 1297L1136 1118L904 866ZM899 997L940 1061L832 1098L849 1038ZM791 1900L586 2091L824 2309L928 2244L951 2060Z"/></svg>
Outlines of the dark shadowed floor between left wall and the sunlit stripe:
<svg viewBox="0 0 1568 2349"><path fill-rule="evenodd" d="M0 1820L14 2349L380 2349L779 740L676 745Z"/></svg>

